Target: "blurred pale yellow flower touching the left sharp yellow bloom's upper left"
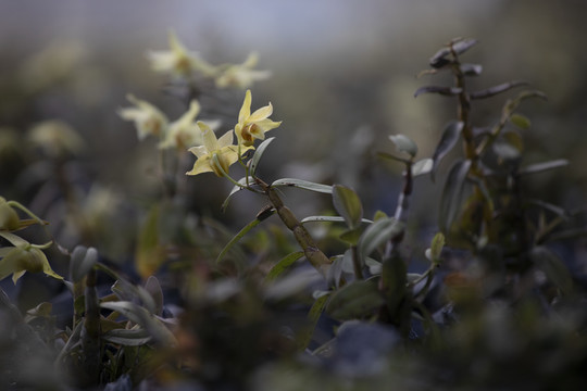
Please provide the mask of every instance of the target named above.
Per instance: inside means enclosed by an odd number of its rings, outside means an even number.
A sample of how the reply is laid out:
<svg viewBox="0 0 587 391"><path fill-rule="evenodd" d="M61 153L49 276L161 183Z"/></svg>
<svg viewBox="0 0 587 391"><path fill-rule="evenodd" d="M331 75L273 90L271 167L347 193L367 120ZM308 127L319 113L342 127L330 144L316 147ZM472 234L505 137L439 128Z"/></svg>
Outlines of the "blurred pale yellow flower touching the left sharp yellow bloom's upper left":
<svg viewBox="0 0 587 391"><path fill-rule="evenodd" d="M170 125L159 148L176 148L183 151L189 147L201 146L203 143L202 130L193 122L199 113L200 104L197 100L192 100L189 110Z"/></svg>

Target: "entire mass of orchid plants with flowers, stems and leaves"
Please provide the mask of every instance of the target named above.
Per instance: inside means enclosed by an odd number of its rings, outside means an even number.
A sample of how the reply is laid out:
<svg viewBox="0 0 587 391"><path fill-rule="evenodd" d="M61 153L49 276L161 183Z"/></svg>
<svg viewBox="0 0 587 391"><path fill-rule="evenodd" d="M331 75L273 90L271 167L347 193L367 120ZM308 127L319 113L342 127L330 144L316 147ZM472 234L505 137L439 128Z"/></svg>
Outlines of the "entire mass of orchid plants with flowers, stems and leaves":
<svg viewBox="0 0 587 391"><path fill-rule="evenodd" d="M527 87L509 81L472 90L482 66L461 58L475 43L448 42L421 74L450 74L453 84L422 87L416 97L457 102L433 155L416 157L416 143L401 134L373 151L399 164L403 177L399 193L386 194L397 199L395 211L371 216L345 184L264 177L262 157L278 142L282 122L272 118L271 103L254 109L249 88L268 73L254 70L255 54L214 66L170 34L170 50L149 60L186 88L187 110L170 121L128 94L132 105L118 112L139 140L158 140L162 188L143 210L128 269L93 244L118 220L79 201L93 191L79 195L68 171L83 141L61 122L38 125L30 140L55 173L78 242L61 243L52 229L61 222L0 198L0 279L16 283L42 272L61 292L23 308L0 290L2 389L582 389L585 265L553 247L585 235L580 211L525 186L569 162L524 159L530 121L519 108L546 99L540 91L507 99L489 127L472 122L476 101ZM232 124L197 119L207 80L247 89ZM233 186L223 209L243 193L265 206L246 211L250 223L228 234L186 200L186 182L200 175ZM404 239L421 180L442 189L438 226L425 251L409 254ZM299 217L286 205L290 191L311 192L332 207ZM263 229L266 222L279 225ZM414 269L413 258L427 267Z"/></svg>

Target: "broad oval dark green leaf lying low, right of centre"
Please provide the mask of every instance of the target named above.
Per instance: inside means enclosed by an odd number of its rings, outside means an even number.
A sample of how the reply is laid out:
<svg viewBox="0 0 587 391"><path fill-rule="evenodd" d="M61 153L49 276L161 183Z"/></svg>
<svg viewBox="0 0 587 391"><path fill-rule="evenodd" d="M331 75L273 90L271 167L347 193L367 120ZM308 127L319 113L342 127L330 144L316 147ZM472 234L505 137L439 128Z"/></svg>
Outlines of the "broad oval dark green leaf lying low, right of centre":
<svg viewBox="0 0 587 391"><path fill-rule="evenodd" d="M353 281L332 295L326 312L338 320L355 319L373 315L384 303L375 279Z"/></svg>

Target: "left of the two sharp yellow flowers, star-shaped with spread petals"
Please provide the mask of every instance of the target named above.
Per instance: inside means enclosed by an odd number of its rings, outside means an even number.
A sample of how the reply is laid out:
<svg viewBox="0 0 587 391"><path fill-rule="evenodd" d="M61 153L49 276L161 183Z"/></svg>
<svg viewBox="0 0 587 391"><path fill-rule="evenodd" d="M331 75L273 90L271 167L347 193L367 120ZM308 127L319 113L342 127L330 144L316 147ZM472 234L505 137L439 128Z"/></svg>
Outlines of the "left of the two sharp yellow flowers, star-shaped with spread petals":
<svg viewBox="0 0 587 391"><path fill-rule="evenodd" d="M238 161L238 147L233 144L233 131L227 131L220 139L216 139L216 135L207 124L198 121L198 126L203 134L203 146L189 149L189 152L193 153L198 160L193 164L193 168L186 174L198 175L212 172L222 177L224 173L228 173L228 167ZM249 149L241 148L240 152L243 153Z"/></svg>

